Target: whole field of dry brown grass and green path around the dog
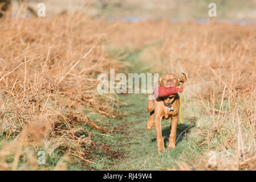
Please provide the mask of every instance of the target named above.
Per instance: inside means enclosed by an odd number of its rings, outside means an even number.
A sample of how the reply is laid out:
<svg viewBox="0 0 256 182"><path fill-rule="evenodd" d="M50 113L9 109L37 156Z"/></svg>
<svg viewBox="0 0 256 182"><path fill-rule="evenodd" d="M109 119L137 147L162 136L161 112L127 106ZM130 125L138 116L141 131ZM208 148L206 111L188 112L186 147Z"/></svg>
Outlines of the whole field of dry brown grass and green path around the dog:
<svg viewBox="0 0 256 182"><path fill-rule="evenodd" d="M256 169L255 24L75 13L0 27L1 170ZM111 68L186 73L176 148L157 153L147 94L97 93ZM162 121L165 147L169 129Z"/></svg>

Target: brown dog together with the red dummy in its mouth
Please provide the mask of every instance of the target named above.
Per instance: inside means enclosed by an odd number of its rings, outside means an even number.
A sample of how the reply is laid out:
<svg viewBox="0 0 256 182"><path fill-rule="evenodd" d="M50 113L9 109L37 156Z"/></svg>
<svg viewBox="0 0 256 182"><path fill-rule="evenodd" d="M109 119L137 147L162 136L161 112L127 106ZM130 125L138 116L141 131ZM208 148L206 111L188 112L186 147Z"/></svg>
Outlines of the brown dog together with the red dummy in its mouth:
<svg viewBox="0 0 256 182"><path fill-rule="evenodd" d="M153 92L153 99L148 100L147 110L150 113L147 121L147 130L151 130L155 125L158 151L164 151L164 138L162 137L162 119L171 119L170 137L168 148L175 147L178 118L181 120L181 97L178 92L182 92L182 86L186 82L186 75L176 77L169 73L162 75Z"/></svg>

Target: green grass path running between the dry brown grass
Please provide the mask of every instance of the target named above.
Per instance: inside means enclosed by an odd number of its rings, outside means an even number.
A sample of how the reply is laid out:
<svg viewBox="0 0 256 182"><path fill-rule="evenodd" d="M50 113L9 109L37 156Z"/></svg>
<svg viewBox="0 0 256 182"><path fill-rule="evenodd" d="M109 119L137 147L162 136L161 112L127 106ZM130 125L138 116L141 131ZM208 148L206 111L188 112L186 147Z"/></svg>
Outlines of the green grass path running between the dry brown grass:
<svg viewBox="0 0 256 182"><path fill-rule="evenodd" d="M140 53L129 53L125 61L139 60ZM133 62L134 63L134 62ZM128 68L131 72L146 72L146 65L133 64ZM144 68L144 69L141 69ZM99 121L103 127L115 128L116 131L109 136L97 135L95 142L101 143L100 148L94 153L95 164L90 164L87 169L107 170L157 170L177 167L181 160L192 161L194 157L202 154L202 147L198 147L198 140L187 138L194 123L185 122L177 126L176 148L168 149L170 120L162 121L162 135L165 142L165 151L158 154L155 127L151 131L146 130L149 117L147 112L148 96L146 94L120 95L119 100L127 102L128 106L120 104L121 118L104 118L100 115L91 115L92 119ZM88 114L88 112L86 112ZM184 115L182 116L184 117ZM187 117L186 117L187 118ZM106 150L107 148L107 150ZM80 169L73 166L70 169ZM84 169L84 168L82 168Z"/></svg>

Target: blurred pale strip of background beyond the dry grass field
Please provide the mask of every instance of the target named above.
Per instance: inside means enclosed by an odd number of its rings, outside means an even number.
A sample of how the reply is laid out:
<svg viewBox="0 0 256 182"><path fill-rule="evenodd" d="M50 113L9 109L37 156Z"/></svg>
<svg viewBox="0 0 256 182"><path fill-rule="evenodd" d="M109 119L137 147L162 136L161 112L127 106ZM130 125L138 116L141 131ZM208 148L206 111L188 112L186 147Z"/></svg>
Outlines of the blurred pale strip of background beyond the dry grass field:
<svg viewBox="0 0 256 182"><path fill-rule="evenodd" d="M11 4L15 15L22 0L0 0ZM90 16L123 18L129 21L140 19L191 20L208 19L209 3L217 5L217 19L252 20L256 18L256 0L29 0L30 14L38 10L38 3L45 3L46 16L82 12Z"/></svg>

